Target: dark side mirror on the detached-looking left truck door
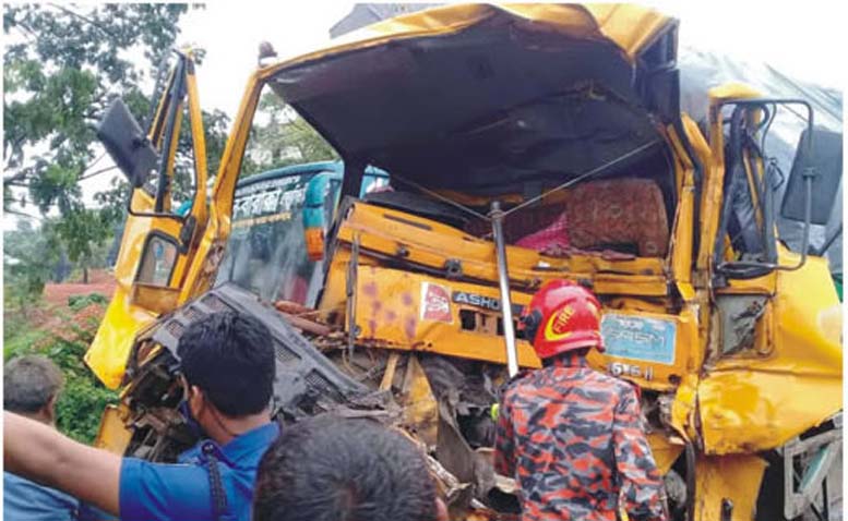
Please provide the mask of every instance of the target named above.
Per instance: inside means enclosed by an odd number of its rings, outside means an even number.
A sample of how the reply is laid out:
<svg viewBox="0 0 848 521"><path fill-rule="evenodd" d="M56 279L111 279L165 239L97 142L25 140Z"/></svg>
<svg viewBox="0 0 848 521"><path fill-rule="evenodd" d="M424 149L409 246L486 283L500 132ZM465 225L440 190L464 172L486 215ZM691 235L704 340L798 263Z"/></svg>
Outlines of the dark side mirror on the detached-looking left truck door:
<svg viewBox="0 0 848 521"><path fill-rule="evenodd" d="M122 99L116 99L106 109L97 125L97 138L130 184L134 189L143 186L156 167L158 154Z"/></svg>

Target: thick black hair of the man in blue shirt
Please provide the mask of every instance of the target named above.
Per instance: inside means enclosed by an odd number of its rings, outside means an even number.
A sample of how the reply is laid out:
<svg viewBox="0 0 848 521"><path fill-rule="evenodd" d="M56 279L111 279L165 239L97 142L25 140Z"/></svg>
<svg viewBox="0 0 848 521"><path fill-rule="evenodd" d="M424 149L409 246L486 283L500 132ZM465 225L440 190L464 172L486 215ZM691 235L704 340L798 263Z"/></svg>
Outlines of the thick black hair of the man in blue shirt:
<svg viewBox="0 0 848 521"><path fill-rule="evenodd" d="M220 312L192 323L177 353L189 384L232 417L262 412L274 386L274 340L250 315Z"/></svg>

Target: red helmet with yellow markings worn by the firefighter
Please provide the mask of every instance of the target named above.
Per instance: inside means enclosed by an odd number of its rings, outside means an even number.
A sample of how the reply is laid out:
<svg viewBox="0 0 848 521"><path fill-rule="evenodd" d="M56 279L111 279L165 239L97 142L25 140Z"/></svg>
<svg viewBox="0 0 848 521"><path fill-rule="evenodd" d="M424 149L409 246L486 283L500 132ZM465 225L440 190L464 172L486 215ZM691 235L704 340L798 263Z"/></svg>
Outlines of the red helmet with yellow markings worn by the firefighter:
<svg viewBox="0 0 848 521"><path fill-rule="evenodd" d="M604 351L600 302L589 290L569 280L551 280L542 286L525 307L521 326L540 359L581 348Z"/></svg>

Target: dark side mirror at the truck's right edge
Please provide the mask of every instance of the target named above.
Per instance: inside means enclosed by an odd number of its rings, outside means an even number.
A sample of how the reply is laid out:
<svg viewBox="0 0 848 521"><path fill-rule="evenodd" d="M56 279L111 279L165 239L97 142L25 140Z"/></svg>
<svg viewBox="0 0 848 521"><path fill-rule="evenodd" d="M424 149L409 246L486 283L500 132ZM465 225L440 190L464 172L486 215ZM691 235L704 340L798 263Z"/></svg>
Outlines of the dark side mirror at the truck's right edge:
<svg viewBox="0 0 848 521"><path fill-rule="evenodd" d="M812 137L812 143L810 138ZM812 146L811 146L812 145ZM809 172L809 173L808 173ZM805 130L798 143L789 183L780 214L786 219L805 220L807 187L804 177L812 174L810 222L826 225L831 218L843 175L843 135L815 128Z"/></svg>

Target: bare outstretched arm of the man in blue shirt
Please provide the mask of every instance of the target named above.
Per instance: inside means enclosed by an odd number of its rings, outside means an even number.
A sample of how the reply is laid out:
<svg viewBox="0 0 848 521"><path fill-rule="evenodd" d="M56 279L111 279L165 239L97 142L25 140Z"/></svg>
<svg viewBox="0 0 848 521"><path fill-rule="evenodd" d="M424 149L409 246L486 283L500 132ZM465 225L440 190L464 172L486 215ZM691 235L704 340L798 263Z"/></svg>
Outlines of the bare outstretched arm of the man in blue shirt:
<svg viewBox="0 0 848 521"><path fill-rule="evenodd" d="M121 458L3 412L4 470L118 514Z"/></svg>

